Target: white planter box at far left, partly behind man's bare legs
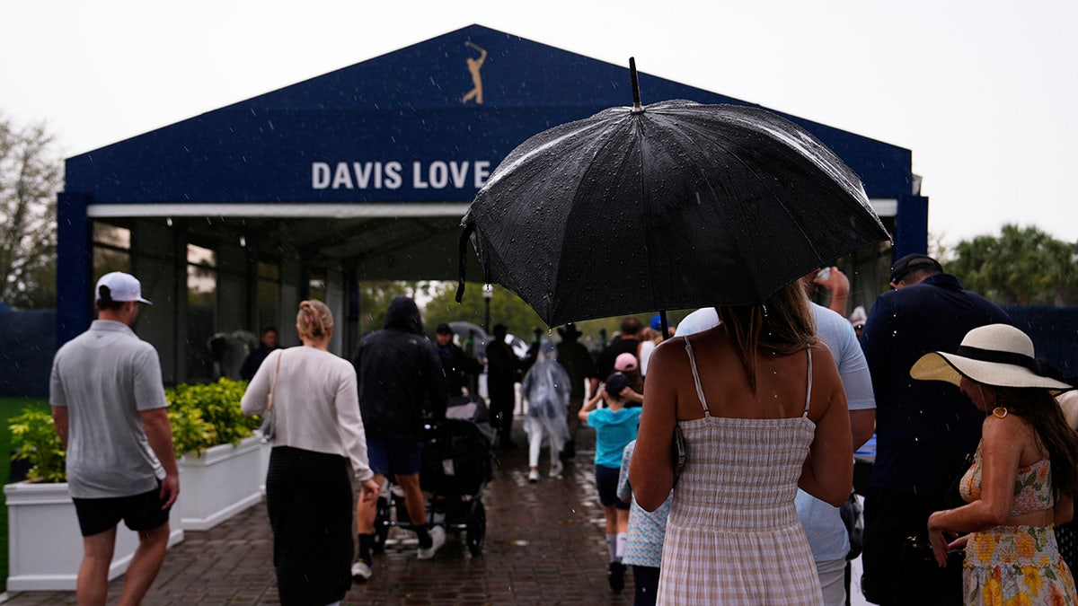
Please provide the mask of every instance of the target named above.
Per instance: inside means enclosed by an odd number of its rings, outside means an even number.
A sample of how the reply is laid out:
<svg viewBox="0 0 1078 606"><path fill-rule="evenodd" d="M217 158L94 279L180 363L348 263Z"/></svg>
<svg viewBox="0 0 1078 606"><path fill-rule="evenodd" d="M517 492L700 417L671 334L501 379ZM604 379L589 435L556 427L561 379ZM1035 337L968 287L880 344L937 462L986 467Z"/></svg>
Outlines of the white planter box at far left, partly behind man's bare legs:
<svg viewBox="0 0 1078 606"><path fill-rule="evenodd" d="M67 483L16 482L3 487L8 502L8 591L74 591L82 535ZM182 494L182 491L181 491ZM179 504L169 514L168 546L183 540ZM127 569L138 535L120 523L109 580Z"/></svg>

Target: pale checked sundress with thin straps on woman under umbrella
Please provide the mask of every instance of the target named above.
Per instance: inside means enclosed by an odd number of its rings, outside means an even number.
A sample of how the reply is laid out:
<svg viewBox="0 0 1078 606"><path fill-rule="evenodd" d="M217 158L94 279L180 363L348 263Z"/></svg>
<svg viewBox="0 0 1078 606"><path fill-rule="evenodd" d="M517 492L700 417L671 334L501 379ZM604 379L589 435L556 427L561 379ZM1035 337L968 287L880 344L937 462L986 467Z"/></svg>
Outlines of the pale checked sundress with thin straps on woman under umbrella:
<svg viewBox="0 0 1078 606"><path fill-rule="evenodd" d="M674 488L658 604L823 604L793 505L816 424L801 416L711 416L686 340L704 417L679 422L688 460Z"/></svg>

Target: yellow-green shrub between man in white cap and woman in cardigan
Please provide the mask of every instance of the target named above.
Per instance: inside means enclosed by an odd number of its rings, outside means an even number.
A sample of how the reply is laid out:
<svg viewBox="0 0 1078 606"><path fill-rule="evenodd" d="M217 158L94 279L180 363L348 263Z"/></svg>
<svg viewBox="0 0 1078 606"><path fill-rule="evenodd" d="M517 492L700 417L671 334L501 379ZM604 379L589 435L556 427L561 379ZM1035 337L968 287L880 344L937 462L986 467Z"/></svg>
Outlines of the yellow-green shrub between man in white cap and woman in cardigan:
<svg viewBox="0 0 1078 606"><path fill-rule="evenodd" d="M221 377L217 383L177 385L165 390L168 421L177 454L202 452L218 444L238 444L261 421L245 416L239 400L247 382Z"/></svg>

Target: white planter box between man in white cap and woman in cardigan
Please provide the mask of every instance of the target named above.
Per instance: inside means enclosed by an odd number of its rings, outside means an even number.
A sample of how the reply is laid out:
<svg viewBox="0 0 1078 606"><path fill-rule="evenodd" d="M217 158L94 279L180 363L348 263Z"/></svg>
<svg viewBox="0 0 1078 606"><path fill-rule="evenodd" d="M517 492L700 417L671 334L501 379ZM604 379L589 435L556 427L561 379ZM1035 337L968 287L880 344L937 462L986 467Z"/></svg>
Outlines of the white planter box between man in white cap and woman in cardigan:
<svg viewBox="0 0 1078 606"><path fill-rule="evenodd" d="M239 444L180 457L180 502L185 531L207 531L257 505L264 494L270 445L258 436Z"/></svg>

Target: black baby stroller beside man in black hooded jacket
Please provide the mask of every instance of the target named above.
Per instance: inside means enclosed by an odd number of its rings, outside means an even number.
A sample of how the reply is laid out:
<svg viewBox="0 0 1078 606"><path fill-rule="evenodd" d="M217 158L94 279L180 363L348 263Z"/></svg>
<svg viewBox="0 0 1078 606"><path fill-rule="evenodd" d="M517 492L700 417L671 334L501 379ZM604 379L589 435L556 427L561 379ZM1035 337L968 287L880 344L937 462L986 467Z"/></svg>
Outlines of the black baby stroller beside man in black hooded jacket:
<svg viewBox="0 0 1078 606"><path fill-rule="evenodd" d="M482 398L452 398L445 422L428 425L424 436L419 485L431 496L427 523L447 533L465 532L468 551L482 555L486 542L483 490L494 477L494 428ZM412 529L404 494L390 478L378 496L374 519L374 551L385 550L390 526Z"/></svg>

